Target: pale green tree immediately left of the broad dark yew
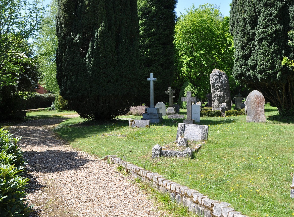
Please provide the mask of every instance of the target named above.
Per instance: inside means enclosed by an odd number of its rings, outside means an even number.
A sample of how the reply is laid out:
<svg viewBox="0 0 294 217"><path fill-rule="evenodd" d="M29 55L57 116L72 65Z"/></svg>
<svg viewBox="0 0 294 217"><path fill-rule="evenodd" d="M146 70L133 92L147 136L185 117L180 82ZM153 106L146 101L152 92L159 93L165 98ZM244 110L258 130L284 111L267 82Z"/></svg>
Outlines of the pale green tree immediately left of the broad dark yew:
<svg viewBox="0 0 294 217"><path fill-rule="evenodd" d="M48 10L42 21L42 27L38 32L38 38L33 43L37 62L40 65L41 78L39 83L46 90L57 94L59 87L56 79L55 54L58 45L55 27L57 13L57 0L51 0Z"/></svg>

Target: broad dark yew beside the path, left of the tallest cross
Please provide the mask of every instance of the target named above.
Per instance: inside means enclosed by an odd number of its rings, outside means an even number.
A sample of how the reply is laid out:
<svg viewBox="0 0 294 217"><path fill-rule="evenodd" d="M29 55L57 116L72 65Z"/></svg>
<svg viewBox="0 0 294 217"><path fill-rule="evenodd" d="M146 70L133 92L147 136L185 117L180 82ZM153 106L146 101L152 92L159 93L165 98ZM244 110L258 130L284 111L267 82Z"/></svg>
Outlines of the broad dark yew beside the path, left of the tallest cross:
<svg viewBox="0 0 294 217"><path fill-rule="evenodd" d="M138 77L136 0L58 0L57 80L82 118L128 112Z"/></svg>

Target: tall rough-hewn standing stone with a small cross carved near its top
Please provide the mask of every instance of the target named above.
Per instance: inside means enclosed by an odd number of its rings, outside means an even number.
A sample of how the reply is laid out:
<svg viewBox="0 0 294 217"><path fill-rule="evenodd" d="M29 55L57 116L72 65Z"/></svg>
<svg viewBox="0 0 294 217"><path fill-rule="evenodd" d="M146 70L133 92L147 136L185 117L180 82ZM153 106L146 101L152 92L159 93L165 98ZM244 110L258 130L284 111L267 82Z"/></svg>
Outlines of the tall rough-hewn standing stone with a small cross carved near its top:
<svg viewBox="0 0 294 217"><path fill-rule="evenodd" d="M226 110L231 110L231 96L228 76L219 69L213 69L210 74L210 86L212 95L212 110L226 104Z"/></svg>

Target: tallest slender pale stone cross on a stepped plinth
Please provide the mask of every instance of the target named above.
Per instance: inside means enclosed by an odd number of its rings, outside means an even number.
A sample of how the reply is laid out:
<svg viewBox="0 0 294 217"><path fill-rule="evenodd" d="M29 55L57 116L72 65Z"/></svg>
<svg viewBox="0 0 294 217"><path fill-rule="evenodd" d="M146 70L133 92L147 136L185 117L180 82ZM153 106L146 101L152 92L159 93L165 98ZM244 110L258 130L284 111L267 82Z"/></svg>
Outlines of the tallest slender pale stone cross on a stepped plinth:
<svg viewBox="0 0 294 217"><path fill-rule="evenodd" d="M150 81L150 107L145 108L145 113L143 113L141 120L150 120L150 123L160 123L163 118L162 114L159 113L159 108L154 106L153 81L156 81L156 78L153 78L153 73L150 73L150 78L147 78L147 81Z"/></svg>

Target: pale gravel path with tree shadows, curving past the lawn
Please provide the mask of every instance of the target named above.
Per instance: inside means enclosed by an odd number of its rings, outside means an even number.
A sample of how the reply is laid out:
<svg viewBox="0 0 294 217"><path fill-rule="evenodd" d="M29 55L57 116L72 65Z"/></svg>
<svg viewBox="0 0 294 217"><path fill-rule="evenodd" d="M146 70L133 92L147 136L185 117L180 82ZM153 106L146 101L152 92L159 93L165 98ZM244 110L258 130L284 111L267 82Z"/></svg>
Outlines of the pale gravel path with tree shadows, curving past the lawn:
<svg viewBox="0 0 294 217"><path fill-rule="evenodd" d="M10 127L28 165L31 216L167 216L114 165L71 148L52 128L66 118Z"/></svg>

